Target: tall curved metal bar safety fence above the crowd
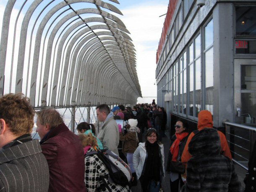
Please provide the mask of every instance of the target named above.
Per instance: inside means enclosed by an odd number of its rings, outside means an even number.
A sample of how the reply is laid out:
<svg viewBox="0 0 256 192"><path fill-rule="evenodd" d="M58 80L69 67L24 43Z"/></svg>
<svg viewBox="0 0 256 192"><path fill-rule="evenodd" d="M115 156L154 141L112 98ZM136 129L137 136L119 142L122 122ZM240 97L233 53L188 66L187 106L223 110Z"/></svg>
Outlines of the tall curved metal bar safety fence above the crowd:
<svg viewBox="0 0 256 192"><path fill-rule="evenodd" d="M8 0L0 96L22 92L35 107L136 103L136 49L117 14L101 0Z"/></svg>

